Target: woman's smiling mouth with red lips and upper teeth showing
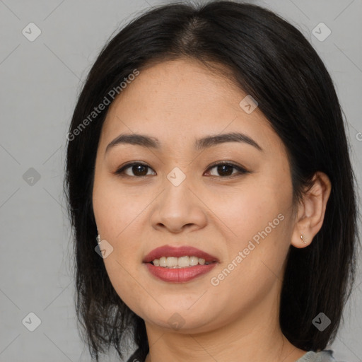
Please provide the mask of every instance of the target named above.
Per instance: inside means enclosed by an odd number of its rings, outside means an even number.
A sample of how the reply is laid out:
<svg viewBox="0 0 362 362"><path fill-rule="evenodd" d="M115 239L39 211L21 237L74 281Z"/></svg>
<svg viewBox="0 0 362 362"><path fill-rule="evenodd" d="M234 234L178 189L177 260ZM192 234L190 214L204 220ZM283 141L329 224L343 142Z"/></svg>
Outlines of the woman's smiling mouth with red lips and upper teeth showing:
<svg viewBox="0 0 362 362"><path fill-rule="evenodd" d="M213 269L219 260L196 247L164 245L152 250L143 260L157 279L185 283Z"/></svg>

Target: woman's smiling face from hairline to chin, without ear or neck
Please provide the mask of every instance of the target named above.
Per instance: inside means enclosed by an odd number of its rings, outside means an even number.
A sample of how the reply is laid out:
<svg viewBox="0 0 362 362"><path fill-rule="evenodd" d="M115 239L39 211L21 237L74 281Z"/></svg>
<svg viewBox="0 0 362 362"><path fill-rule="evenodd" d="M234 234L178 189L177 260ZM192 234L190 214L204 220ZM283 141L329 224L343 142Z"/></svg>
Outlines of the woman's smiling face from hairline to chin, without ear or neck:
<svg viewBox="0 0 362 362"><path fill-rule="evenodd" d="M140 71L110 106L93 210L112 247L104 259L112 286L146 325L216 329L267 310L279 294L294 224L291 172L281 139L258 107L240 103L245 96L228 79L178 59ZM197 144L230 133L243 137ZM121 134L159 146L107 148ZM167 271L144 262L164 245L195 247L211 264ZM191 259L202 264L201 254Z"/></svg>

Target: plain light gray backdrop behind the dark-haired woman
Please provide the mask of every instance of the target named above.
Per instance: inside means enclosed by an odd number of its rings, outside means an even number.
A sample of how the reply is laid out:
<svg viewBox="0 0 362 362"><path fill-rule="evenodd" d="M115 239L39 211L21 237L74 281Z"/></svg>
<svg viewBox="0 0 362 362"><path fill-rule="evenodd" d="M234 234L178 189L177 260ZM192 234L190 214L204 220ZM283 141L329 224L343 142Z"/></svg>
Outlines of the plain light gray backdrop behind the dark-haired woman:
<svg viewBox="0 0 362 362"><path fill-rule="evenodd" d="M67 127L82 81L108 37L136 13L167 2L0 0L0 361L91 360L74 312L62 191ZM362 1L256 4L291 21L325 62L349 124L361 185ZM30 22L41 30L33 42L22 33ZM313 35L320 22L332 31L324 41ZM344 325L331 346L341 361L362 360L361 257L359 268ZM41 320L34 332L22 323L30 312Z"/></svg>

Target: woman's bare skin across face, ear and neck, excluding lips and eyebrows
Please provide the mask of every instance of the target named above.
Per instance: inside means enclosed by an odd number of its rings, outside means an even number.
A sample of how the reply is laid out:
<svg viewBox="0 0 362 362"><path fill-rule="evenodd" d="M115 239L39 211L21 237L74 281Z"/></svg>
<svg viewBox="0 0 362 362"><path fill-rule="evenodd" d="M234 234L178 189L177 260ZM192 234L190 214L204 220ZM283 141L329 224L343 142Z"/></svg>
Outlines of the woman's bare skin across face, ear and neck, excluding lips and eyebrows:
<svg viewBox="0 0 362 362"><path fill-rule="evenodd" d="M308 247L322 226L330 182L316 173L312 189L293 209L284 144L259 108L247 114L240 107L245 95L205 66L177 59L141 70L107 113L95 162L93 210L101 239L113 247L104 259L112 286L146 323L146 361L291 362L306 352L281 332L279 295L289 247ZM194 139L227 132L247 134L263 151L237 142L194 151ZM156 137L161 148L119 144L105 153L122 133ZM223 160L249 173L210 168ZM115 175L131 161L149 168ZM186 176L177 187L167 178L175 167ZM284 220L212 285L211 277L279 214ZM187 283L160 281L142 259L165 244L192 245L220 262ZM169 322L174 313L184 323L180 329Z"/></svg>

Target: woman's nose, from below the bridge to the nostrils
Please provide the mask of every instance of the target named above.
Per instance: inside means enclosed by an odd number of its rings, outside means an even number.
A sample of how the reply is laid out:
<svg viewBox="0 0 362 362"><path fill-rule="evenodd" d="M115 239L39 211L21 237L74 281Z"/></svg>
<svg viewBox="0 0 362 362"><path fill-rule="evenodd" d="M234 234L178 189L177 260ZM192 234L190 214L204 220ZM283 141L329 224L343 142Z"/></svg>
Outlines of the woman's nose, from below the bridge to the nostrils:
<svg viewBox="0 0 362 362"><path fill-rule="evenodd" d="M177 186L166 179L165 189L153 203L151 226L170 233L204 228L207 223L206 210L207 207L187 178Z"/></svg>

